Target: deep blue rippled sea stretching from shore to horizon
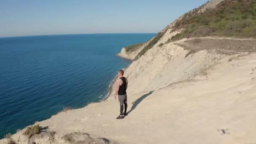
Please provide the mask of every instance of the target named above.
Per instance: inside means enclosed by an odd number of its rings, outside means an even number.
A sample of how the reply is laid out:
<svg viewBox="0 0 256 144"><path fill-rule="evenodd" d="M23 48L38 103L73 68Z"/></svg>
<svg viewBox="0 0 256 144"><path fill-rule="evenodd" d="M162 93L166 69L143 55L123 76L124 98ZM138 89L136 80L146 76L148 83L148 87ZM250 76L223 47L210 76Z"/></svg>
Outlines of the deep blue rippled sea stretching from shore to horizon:
<svg viewBox="0 0 256 144"><path fill-rule="evenodd" d="M81 34L0 38L0 139L63 110L103 100L121 48L150 34Z"/></svg>

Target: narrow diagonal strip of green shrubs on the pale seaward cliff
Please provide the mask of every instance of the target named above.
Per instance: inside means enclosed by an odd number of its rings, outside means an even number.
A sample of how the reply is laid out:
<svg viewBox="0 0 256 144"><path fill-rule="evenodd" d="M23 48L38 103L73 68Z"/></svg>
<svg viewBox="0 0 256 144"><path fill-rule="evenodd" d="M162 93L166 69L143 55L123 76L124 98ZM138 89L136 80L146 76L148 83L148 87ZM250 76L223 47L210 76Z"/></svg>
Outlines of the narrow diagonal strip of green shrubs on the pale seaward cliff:
<svg viewBox="0 0 256 144"><path fill-rule="evenodd" d="M165 30L165 32L167 31L167 29ZM155 37L138 53L138 55L135 57L134 60L139 59L141 56L143 56L149 49L151 49L159 40L161 37L163 37L163 35L165 34L165 32L159 32L157 35L155 35Z"/></svg>

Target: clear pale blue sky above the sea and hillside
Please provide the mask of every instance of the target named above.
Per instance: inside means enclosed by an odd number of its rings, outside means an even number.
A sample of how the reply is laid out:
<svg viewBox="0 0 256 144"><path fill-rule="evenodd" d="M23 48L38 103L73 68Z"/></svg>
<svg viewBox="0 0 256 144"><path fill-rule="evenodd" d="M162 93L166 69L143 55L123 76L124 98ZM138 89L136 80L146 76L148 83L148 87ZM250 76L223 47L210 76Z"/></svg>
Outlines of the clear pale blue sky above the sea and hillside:
<svg viewBox="0 0 256 144"><path fill-rule="evenodd" d="M207 0L0 0L0 37L159 32Z"/></svg>

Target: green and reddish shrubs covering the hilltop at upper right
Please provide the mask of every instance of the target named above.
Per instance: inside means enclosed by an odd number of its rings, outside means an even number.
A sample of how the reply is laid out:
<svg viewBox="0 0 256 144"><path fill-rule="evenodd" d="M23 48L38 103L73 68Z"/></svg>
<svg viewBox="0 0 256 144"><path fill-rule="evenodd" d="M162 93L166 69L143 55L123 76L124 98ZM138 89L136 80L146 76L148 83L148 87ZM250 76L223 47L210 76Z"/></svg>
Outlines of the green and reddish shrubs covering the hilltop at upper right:
<svg viewBox="0 0 256 144"><path fill-rule="evenodd" d="M196 8L176 22L173 31L184 29L166 43L184 37L256 36L256 0L224 0L215 8Z"/></svg>

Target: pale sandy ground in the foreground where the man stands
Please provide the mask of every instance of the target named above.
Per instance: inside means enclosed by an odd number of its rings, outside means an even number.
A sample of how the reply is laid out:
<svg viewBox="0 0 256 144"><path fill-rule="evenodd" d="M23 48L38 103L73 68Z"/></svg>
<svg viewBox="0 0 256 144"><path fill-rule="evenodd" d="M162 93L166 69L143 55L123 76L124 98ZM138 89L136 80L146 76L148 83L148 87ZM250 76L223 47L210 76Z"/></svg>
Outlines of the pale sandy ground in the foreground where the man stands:
<svg viewBox="0 0 256 144"><path fill-rule="evenodd" d="M128 88L129 114L123 120L115 119L119 104L111 96L37 124L57 133L53 144L59 144L61 134L78 131L120 144L255 144L256 54L220 62L206 72L207 79L153 92L129 94ZM23 131L13 139L21 140Z"/></svg>

